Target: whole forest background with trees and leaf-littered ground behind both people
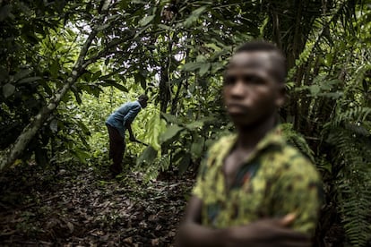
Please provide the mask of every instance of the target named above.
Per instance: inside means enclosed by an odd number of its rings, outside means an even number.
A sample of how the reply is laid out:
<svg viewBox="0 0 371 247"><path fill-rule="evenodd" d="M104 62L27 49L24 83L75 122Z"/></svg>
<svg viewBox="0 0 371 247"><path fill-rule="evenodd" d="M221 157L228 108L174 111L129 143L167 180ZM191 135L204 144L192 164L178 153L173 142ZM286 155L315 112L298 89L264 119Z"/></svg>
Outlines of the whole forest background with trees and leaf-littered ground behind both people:
<svg viewBox="0 0 371 247"><path fill-rule="evenodd" d="M287 57L289 142L322 175L316 246L371 246L371 2L0 0L0 244L173 244L197 167L232 132L223 68ZM125 172L107 116L146 93Z"/></svg>

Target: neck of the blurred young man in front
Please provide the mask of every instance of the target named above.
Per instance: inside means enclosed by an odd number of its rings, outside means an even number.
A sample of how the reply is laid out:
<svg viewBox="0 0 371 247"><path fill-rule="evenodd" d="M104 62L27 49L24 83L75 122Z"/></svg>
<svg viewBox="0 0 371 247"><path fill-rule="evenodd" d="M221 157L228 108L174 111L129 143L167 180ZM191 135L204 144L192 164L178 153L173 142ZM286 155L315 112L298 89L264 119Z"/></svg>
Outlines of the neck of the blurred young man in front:
<svg viewBox="0 0 371 247"><path fill-rule="evenodd" d="M237 126L237 149L255 149L255 146L263 139L265 134L274 128L275 123L276 118L272 115L260 124Z"/></svg>

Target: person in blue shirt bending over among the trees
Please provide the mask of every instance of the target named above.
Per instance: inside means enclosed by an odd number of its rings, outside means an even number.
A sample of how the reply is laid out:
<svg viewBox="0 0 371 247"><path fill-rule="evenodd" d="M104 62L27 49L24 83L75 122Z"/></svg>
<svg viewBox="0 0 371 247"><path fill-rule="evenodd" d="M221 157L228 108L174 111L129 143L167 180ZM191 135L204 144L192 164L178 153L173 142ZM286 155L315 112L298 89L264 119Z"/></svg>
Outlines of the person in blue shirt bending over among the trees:
<svg viewBox="0 0 371 247"><path fill-rule="evenodd" d="M109 158L113 159L109 170L113 175L118 175L123 170L121 163L125 153L125 130L129 131L129 140L136 141L131 124L141 109L147 106L147 101L148 96L141 95L138 100L125 103L108 116L106 125L109 134Z"/></svg>

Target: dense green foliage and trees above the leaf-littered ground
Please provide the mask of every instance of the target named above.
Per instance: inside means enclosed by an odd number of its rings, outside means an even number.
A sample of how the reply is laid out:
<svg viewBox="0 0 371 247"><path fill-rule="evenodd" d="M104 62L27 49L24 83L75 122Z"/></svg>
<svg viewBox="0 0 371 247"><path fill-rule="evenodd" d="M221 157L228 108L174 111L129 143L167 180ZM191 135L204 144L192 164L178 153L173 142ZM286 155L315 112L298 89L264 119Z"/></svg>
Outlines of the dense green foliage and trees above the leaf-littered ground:
<svg viewBox="0 0 371 247"><path fill-rule="evenodd" d="M324 178L316 235L371 237L371 9L358 1L0 1L0 171L34 160L52 169L77 158L107 166L104 120L142 92L151 106L127 163L151 179L197 167L232 130L220 98L222 70L246 40L287 55L294 145ZM133 165L134 166L134 165Z"/></svg>

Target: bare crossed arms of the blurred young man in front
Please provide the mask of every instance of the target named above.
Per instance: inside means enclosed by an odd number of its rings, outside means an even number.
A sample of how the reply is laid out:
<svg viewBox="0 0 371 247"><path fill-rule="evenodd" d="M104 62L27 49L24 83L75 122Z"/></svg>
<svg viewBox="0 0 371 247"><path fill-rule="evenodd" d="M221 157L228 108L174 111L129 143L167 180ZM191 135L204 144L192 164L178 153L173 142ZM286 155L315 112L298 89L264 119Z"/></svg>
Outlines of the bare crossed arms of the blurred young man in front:
<svg viewBox="0 0 371 247"><path fill-rule="evenodd" d="M203 201L194 196L188 203L186 217L179 227L176 244L186 246L259 246L259 247L309 247L310 238L290 230L295 215L266 218L246 226L212 229L201 225Z"/></svg>

